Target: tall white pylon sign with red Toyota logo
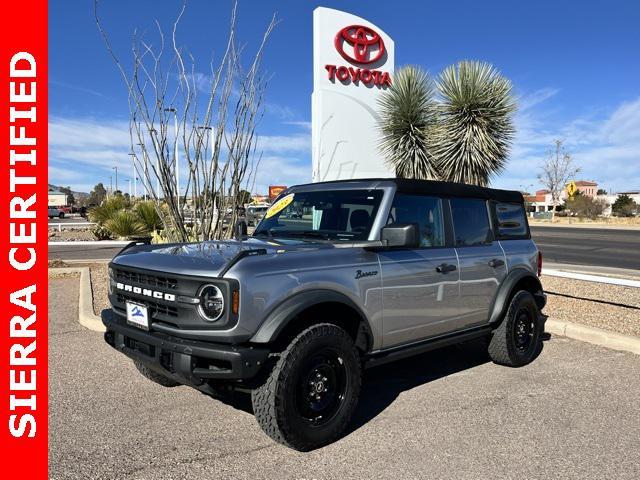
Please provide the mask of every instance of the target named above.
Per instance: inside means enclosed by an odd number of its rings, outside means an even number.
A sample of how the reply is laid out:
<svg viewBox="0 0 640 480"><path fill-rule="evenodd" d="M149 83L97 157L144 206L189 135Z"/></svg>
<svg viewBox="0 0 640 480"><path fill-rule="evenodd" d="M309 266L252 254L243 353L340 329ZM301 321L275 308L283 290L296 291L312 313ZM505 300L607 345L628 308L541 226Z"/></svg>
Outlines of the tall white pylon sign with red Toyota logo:
<svg viewBox="0 0 640 480"><path fill-rule="evenodd" d="M378 98L391 85L394 43L350 13L313 12L314 182L394 177L379 149Z"/></svg>

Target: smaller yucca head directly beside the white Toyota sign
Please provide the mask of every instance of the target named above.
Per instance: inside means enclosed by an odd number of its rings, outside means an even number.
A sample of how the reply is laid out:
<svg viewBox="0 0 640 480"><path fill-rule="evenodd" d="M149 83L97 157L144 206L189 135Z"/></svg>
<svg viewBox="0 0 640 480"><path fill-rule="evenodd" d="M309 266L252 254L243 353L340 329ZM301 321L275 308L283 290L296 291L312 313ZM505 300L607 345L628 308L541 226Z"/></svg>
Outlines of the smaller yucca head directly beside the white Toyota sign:
<svg viewBox="0 0 640 480"><path fill-rule="evenodd" d="M416 66L396 71L393 84L379 100L380 149L396 175L437 179L432 153L437 112L429 74Z"/></svg>

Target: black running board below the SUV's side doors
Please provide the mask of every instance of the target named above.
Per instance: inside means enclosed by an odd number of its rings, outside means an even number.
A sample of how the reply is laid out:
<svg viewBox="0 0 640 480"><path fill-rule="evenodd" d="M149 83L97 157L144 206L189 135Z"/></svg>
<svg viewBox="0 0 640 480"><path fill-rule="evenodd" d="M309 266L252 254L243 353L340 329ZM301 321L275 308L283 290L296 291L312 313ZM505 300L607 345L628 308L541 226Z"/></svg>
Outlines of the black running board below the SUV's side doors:
<svg viewBox="0 0 640 480"><path fill-rule="evenodd" d="M492 331L490 326L482 326L469 330L463 330L461 332L454 332L439 337L428 338L426 340L411 343L409 345L399 345L387 350L377 351L370 353L365 359L365 368L376 367L389 362L395 362L406 357L412 357L421 353L436 350L448 345L455 345L456 343L462 343L476 338L481 338L489 335Z"/></svg>

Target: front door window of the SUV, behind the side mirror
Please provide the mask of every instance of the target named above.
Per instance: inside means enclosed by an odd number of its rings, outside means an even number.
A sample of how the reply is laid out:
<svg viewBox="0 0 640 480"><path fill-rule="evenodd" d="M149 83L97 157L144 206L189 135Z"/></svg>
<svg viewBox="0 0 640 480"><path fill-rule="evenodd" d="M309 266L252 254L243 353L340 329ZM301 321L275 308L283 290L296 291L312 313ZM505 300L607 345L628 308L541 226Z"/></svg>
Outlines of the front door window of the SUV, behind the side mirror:
<svg viewBox="0 0 640 480"><path fill-rule="evenodd" d="M424 195L396 194L389 223L417 223L421 247L444 247L442 200Z"/></svg>

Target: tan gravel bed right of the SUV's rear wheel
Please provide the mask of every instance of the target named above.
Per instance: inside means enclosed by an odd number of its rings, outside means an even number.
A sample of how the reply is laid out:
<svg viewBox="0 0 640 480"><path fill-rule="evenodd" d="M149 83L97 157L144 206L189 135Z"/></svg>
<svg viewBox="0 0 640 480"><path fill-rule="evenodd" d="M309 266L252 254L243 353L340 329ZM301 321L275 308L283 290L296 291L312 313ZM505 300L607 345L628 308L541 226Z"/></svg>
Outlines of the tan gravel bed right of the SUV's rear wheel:
<svg viewBox="0 0 640 480"><path fill-rule="evenodd" d="M640 288L546 275L542 286L549 318L640 337Z"/></svg>

